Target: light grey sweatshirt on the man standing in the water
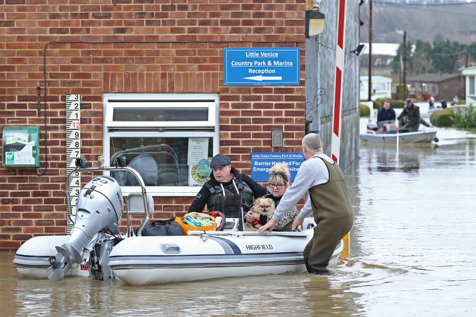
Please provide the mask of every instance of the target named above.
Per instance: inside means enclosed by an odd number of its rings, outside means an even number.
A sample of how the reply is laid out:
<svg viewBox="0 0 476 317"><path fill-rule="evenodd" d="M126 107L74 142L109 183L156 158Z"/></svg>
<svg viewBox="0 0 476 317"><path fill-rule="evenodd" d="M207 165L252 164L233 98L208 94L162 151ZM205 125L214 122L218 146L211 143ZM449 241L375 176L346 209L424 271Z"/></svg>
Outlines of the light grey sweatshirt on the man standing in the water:
<svg viewBox="0 0 476 317"><path fill-rule="evenodd" d="M274 211L274 221L278 221L279 218L296 205L299 199L307 193L307 190L329 181L329 171L327 170L326 164L321 159L315 157L321 157L329 163L334 163L329 156L322 153L315 154L312 158L302 162L297 171L293 185L284 192L278 207ZM311 201L307 195L304 207L302 207L298 217L304 219L305 217L310 216L311 213Z"/></svg>

